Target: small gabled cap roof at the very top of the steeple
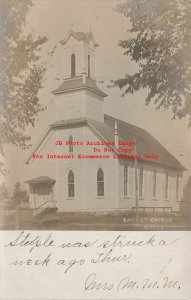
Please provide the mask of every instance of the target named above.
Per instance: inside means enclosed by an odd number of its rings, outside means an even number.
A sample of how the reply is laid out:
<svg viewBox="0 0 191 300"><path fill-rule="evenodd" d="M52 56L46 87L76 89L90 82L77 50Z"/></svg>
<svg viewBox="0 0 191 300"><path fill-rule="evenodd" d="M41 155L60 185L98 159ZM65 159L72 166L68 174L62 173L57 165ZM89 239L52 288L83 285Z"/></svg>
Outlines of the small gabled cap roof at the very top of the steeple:
<svg viewBox="0 0 191 300"><path fill-rule="evenodd" d="M66 38L60 41L60 44L65 45L69 38L73 36L77 41L83 41L86 44L89 44L90 41L93 42L94 47L98 47L99 44L96 42L92 32L75 32L70 30Z"/></svg>

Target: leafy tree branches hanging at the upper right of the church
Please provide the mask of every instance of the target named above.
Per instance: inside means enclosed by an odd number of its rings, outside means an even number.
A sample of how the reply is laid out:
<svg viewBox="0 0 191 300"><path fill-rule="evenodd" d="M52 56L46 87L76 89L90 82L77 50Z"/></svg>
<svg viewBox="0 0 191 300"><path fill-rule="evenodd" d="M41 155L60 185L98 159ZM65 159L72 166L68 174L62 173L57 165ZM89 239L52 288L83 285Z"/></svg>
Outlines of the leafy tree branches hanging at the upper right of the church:
<svg viewBox="0 0 191 300"><path fill-rule="evenodd" d="M191 1L126 0L116 10L130 20L119 41L139 70L113 81L123 95L148 89L146 105L170 108L191 125Z"/></svg>

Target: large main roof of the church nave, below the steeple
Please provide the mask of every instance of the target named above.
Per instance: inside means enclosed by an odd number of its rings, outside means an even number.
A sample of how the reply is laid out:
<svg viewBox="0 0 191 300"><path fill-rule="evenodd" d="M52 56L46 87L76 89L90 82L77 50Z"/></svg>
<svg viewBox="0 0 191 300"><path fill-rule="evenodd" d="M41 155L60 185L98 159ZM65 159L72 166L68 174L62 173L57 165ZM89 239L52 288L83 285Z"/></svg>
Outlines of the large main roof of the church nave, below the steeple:
<svg viewBox="0 0 191 300"><path fill-rule="evenodd" d="M52 130L56 130L58 128L89 126L98 139L106 142L113 142L115 122L117 123L118 127L119 141L133 141L135 139L137 145L137 154L159 155L157 160L151 161L143 158L143 161L149 161L149 163L155 163L171 169L186 170L186 168L182 166L181 163L146 130L108 115L104 115L104 123L90 118L78 118L55 122L50 125L46 134L49 134ZM41 142L35 147L35 151L37 151L38 147L40 147L43 140L44 139L42 139ZM123 147L125 146L120 146L120 148ZM115 149L115 151L117 152L117 149ZM28 157L26 163L28 163L30 159L31 155Z"/></svg>

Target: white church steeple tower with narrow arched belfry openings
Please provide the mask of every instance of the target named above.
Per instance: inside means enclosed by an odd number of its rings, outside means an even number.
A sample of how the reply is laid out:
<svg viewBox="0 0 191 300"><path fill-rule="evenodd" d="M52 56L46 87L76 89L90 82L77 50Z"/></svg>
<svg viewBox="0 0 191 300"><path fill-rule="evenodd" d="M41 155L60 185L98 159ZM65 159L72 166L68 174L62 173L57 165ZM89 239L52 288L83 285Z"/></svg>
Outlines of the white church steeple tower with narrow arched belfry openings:
<svg viewBox="0 0 191 300"><path fill-rule="evenodd" d="M56 121L91 118L104 122L103 101L107 95L95 80L95 49L91 32L70 31L63 46L63 82L52 93L56 96Z"/></svg>

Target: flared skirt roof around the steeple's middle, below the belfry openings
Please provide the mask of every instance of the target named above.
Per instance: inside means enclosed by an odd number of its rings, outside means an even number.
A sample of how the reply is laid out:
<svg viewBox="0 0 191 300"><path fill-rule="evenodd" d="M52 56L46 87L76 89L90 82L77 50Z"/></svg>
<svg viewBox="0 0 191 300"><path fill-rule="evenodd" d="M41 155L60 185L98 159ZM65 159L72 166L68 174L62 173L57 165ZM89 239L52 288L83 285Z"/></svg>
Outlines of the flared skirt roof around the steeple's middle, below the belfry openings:
<svg viewBox="0 0 191 300"><path fill-rule="evenodd" d="M95 80L86 77L85 82L83 82L83 76L76 76L76 77L65 79L63 83L56 90L52 91L52 93L61 94L61 93L66 93L69 91L75 91L80 89L90 90L102 97L107 96L104 92L102 92L102 90L100 90Z"/></svg>

